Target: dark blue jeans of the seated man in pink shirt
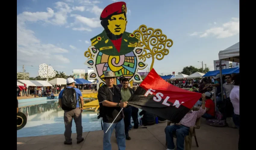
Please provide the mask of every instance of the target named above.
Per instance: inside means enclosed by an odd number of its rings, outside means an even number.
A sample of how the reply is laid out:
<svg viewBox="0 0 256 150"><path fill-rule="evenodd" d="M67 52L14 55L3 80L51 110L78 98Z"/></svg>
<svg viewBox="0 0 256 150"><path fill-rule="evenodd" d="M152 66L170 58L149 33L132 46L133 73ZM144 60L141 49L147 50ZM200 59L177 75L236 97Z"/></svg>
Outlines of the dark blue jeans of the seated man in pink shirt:
<svg viewBox="0 0 256 150"><path fill-rule="evenodd" d="M173 132L176 131L176 145L177 150L184 150L184 140L187 135L189 135L189 128L185 127L183 125L169 125L165 129L165 136L167 141L167 148L168 149L174 149L174 143L173 143Z"/></svg>

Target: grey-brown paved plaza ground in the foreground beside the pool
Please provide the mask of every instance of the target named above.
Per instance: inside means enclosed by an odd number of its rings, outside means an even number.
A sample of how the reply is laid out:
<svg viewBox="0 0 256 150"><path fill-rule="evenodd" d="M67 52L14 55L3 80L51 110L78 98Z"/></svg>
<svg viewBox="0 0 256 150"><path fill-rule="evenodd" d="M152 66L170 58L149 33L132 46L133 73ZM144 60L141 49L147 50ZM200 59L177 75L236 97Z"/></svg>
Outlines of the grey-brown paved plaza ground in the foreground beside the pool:
<svg viewBox="0 0 256 150"><path fill-rule="evenodd" d="M60 124L60 127L64 126ZM130 137L126 140L126 150L166 150L164 128L166 123L159 123L147 128L132 129ZM72 127L73 128L73 127ZM84 127L85 128L85 127ZM21 129L20 131L22 131ZM50 131L50 130L49 130ZM75 129L72 129L73 133ZM17 137L17 150L102 150L103 131L84 132L85 141L76 144L76 133L72 134L73 145L63 144L64 131L58 135L37 137ZM238 129L229 127L211 127L201 119L200 129L196 129L199 147L192 139L192 150L236 150L238 143ZM174 140L176 143L176 140ZM114 132L111 138L112 150L118 150Z"/></svg>

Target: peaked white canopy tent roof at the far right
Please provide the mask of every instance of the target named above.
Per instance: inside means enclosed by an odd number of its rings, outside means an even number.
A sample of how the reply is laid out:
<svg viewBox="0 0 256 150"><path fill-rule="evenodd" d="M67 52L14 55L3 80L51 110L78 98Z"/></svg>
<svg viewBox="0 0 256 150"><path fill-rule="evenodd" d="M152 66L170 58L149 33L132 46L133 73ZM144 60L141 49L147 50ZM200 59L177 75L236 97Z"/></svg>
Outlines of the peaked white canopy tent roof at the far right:
<svg viewBox="0 0 256 150"><path fill-rule="evenodd" d="M240 42L230 46L229 48L221 50L219 52L219 60L239 62L240 61L239 50L240 50Z"/></svg>

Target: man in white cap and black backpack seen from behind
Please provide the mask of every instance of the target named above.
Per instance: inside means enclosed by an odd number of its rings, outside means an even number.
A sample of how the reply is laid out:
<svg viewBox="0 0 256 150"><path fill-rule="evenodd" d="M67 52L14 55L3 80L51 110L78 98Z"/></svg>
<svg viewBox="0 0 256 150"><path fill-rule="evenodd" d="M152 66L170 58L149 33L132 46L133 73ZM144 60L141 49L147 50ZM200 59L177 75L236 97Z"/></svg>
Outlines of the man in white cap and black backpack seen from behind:
<svg viewBox="0 0 256 150"><path fill-rule="evenodd" d="M83 112L83 95L78 88L74 88L75 82L73 78L67 78L67 88L64 88L59 94L59 105L64 110L64 124L65 124L65 141L64 144L71 145L71 127L72 120L76 123L76 140L77 144L83 142L84 138L82 127L82 112ZM80 103L79 103L80 99ZM80 105L81 104L81 105Z"/></svg>

